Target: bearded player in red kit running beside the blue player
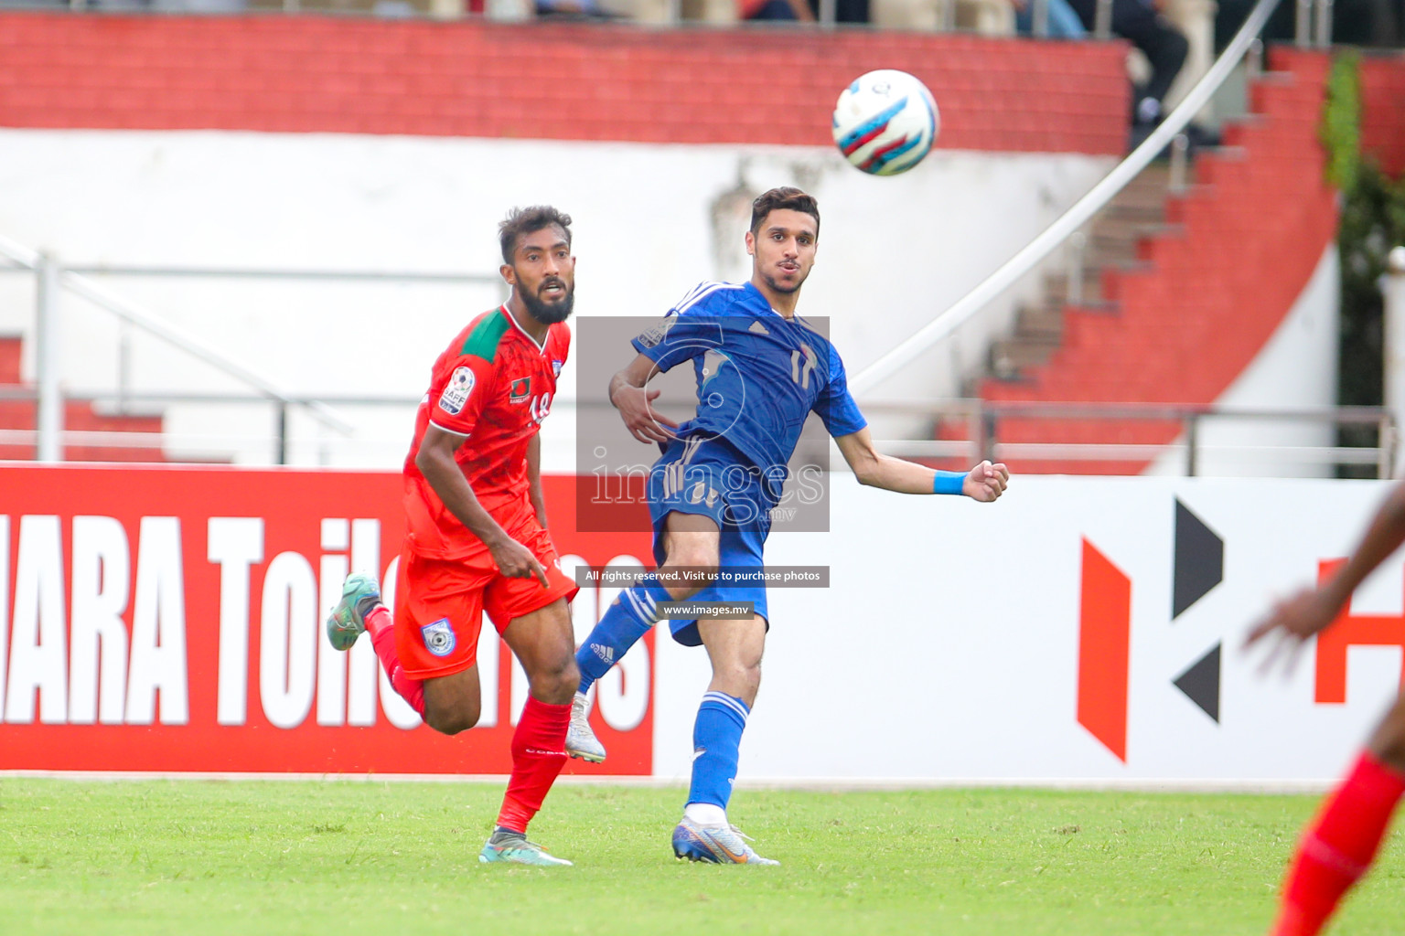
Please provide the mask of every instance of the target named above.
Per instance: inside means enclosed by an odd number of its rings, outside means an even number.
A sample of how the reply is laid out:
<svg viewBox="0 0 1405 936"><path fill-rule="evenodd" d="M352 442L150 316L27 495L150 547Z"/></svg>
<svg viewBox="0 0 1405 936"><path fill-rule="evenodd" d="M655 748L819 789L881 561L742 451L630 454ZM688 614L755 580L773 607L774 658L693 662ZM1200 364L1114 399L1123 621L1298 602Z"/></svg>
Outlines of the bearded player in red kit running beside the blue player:
<svg viewBox="0 0 1405 936"><path fill-rule="evenodd" d="M507 302L476 317L434 362L405 460L406 537L395 615L375 578L347 578L327 639L362 630L391 685L436 731L478 723L478 637L486 610L527 672L513 772L481 862L570 864L527 841L527 824L566 762L580 675L562 574L547 533L538 428L570 347L570 216L514 209L499 226Z"/></svg>

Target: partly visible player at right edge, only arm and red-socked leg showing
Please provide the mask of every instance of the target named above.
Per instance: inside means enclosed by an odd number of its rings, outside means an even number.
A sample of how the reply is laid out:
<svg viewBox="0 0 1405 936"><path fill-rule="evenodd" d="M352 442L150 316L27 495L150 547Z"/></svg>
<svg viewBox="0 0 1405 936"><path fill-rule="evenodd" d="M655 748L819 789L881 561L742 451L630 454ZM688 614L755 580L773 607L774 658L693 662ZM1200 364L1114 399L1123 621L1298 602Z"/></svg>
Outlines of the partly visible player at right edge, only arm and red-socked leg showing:
<svg viewBox="0 0 1405 936"><path fill-rule="evenodd" d="M1290 657L1308 637L1326 630L1356 587L1405 543L1405 484L1385 498L1356 553L1319 588L1286 602L1249 631L1249 644L1270 634ZM1397 699L1366 742L1346 779L1302 834L1283 884L1272 936L1316 936L1332 911L1375 860L1391 815L1405 794L1405 697Z"/></svg>

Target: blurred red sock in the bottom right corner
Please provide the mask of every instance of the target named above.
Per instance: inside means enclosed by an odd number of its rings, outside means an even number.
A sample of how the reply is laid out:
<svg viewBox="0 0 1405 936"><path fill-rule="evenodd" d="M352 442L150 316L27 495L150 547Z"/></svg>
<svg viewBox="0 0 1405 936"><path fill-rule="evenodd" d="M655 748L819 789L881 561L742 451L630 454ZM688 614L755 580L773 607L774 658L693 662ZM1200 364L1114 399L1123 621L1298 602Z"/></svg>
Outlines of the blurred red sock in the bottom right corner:
<svg viewBox="0 0 1405 936"><path fill-rule="evenodd" d="M1363 751L1298 843L1273 936L1314 936L1375 857L1405 776Z"/></svg>

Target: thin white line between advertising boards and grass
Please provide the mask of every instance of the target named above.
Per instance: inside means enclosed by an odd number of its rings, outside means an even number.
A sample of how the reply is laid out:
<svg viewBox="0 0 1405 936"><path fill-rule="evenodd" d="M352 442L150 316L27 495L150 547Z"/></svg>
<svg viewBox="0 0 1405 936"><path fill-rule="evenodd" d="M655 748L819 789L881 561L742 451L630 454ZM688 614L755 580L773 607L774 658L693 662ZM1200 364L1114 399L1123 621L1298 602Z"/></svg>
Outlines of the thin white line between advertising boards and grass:
<svg viewBox="0 0 1405 936"><path fill-rule="evenodd" d="M0 770L3 779L42 780L292 780L319 783L506 783L504 773L240 773L219 770ZM566 786L679 787L681 777L569 775ZM1319 780L1194 780L1155 777L754 777L738 780L745 790L813 790L826 793L899 790L1054 790L1089 793L1325 793L1336 779Z"/></svg>

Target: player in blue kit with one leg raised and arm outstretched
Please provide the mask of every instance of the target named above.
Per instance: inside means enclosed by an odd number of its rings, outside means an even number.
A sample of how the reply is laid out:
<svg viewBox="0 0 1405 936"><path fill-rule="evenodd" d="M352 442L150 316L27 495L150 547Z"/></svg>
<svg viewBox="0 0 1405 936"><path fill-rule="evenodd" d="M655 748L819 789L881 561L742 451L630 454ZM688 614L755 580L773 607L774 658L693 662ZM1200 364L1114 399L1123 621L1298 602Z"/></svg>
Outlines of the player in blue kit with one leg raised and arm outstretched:
<svg viewBox="0 0 1405 936"><path fill-rule="evenodd" d="M787 463L811 413L835 438L860 484L903 494L965 494L993 501L1009 470L982 462L967 473L880 455L844 380L833 345L797 317L799 288L815 262L819 208L797 188L776 188L752 205L746 251L752 279L702 283L659 327L634 340L638 356L610 383L610 401L629 432L656 442L663 456L649 474L655 574L620 594L576 654L580 692L572 707L566 752L603 761L586 720L592 683L659 620L659 603L749 603L743 617L672 620L679 643L707 647L712 681L693 730L693 782L683 821L673 831L679 857L776 864L726 821L742 731L762 681L769 615L760 582L731 581L760 570L771 508L780 502ZM656 413L646 389L659 372L691 361L697 415L674 424ZM705 570L697 582L681 570Z"/></svg>

